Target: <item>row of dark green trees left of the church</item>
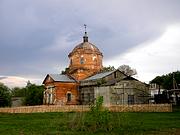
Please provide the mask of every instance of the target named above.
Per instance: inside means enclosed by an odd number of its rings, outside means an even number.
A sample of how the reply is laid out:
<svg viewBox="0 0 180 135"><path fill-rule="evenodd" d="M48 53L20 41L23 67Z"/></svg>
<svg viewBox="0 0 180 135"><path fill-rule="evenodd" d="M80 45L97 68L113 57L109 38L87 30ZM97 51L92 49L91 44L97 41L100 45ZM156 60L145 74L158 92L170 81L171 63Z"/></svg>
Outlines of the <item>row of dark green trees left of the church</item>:
<svg viewBox="0 0 180 135"><path fill-rule="evenodd" d="M43 85L31 84L29 81L26 87L8 88L0 83L0 107L11 106L12 97L22 97L23 105L41 105L43 104Z"/></svg>

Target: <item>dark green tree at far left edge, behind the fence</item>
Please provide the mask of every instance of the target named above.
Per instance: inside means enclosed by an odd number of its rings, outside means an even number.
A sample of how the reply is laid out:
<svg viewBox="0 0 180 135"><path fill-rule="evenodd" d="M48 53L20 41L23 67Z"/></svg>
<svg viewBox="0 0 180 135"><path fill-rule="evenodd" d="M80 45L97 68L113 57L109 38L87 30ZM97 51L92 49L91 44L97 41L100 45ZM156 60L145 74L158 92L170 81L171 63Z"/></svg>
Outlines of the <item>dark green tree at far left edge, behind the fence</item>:
<svg viewBox="0 0 180 135"><path fill-rule="evenodd" d="M11 106L10 89L3 83L0 83L0 107Z"/></svg>

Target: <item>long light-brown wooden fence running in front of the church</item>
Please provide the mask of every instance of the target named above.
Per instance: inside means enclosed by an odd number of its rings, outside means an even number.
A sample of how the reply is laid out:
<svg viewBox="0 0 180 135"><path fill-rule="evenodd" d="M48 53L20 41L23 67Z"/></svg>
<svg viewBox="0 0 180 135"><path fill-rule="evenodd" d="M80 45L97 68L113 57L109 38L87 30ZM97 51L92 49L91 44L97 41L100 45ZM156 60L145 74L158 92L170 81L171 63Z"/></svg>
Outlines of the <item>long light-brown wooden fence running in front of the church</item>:
<svg viewBox="0 0 180 135"><path fill-rule="evenodd" d="M116 105L106 108L112 112L172 112L171 104ZM84 105L41 105L0 108L1 113L84 112L89 110L89 106Z"/></svg>

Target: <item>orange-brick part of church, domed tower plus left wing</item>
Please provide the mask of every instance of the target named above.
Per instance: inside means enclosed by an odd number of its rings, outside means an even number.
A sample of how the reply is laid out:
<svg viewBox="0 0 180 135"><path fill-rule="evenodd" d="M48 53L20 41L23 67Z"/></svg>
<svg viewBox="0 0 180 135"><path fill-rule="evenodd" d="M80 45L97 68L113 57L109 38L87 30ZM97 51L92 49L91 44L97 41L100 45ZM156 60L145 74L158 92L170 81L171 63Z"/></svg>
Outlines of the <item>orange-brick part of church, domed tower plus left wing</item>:
<svg viewBox="0 0 180 135"><path fill-rule="evenodd" d="M83 42L69 53L69 67L66 74L48 74L43 84L44 104L79 104L80 81L97 74L102 69L103 55L88 42L87 32Z"/></svg>

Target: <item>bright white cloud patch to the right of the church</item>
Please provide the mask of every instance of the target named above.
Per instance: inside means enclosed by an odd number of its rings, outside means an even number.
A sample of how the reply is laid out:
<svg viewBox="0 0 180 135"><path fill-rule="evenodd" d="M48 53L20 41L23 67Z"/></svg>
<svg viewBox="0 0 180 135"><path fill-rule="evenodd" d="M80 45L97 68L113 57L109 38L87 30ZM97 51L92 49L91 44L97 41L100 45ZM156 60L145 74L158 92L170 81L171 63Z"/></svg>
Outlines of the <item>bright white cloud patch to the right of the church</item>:
<svg viewBox="0 0 180 135"><path fill-rule="evenodd" d="M180 69L180 24L166 28L156 40L147 41L119 55L113 60L105 61L105 65L116 67L128 64L137 69L138 78L148 82L157 75Z"/></svg>

